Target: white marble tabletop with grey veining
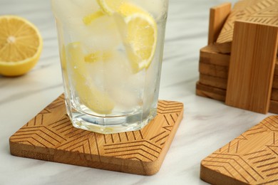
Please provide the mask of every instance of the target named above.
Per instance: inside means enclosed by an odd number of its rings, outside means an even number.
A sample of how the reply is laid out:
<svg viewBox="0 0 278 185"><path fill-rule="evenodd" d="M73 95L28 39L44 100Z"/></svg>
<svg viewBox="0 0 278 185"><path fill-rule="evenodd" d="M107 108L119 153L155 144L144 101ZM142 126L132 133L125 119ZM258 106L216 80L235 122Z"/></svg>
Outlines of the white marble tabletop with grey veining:
<svg viewBox="0 0 278 185"><path fill-rule="evenodd" d="M44 46L30 73L0 76L0 184L206 184L199 177L201 160L267 117L195 95L209 9L221 2L170 0L160 99L183 102L184 120L158 174L138 176L11 156L9 137L63 88L50 1L1 0L0 14L16 14L35 23Z"/></svg>

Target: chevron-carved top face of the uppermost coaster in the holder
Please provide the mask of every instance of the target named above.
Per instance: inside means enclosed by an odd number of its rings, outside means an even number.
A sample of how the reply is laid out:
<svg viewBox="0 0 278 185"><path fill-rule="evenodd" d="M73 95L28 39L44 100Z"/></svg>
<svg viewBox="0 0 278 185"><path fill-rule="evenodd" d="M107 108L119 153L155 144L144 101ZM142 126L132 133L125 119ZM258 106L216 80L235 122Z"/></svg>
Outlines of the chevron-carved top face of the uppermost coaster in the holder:
<svg viewBox="0 0 278 185"><path fill-rule="evenodd" d="M232 41L236 20L278 26L278 0L243 0L235 4L217 38L217 43Z"/></svg>

